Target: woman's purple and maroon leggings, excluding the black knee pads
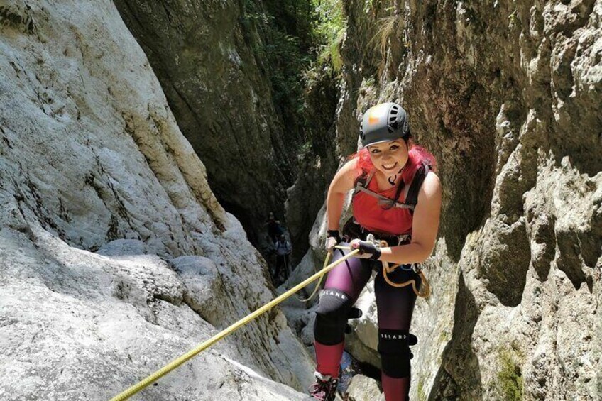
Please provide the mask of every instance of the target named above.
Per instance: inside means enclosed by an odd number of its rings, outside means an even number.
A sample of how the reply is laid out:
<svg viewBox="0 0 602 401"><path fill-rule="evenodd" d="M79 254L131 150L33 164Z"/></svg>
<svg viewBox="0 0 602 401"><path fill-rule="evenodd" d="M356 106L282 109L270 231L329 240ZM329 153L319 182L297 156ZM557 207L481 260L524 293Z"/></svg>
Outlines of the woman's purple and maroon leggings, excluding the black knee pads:
<svg viewBox="0 0 602 401"><path fill-rule="evenodd" d="M341 258L341 250L334 252L334 260ZM349 258L337 265L328 273L324 291L338 290L344 292L354 304L361 290L371 277L373 268L378 271L374 281L374 292L376 295L376 307L378 311L378 329L387 330L410 330L412 312L416 302L416 295L412 286L393 287L385 282L383 278L382 263L374 260ZM420 284L420 276L409 269L408 265L397 268L388 277L394 282L404 282L410 279ZM322 306L322 300L320 306ZM316 319L319 326L323 320ZM316 327L319 329L319 327ZM316 360L319 373L338 376L339 364L343 353L344 342L334 345L324 345L315 341ZM384 368L384 361L383 361ZM407 377L393 378L382 373L383 390L387 401L407 400L410 391L410 373Z"/></svg>

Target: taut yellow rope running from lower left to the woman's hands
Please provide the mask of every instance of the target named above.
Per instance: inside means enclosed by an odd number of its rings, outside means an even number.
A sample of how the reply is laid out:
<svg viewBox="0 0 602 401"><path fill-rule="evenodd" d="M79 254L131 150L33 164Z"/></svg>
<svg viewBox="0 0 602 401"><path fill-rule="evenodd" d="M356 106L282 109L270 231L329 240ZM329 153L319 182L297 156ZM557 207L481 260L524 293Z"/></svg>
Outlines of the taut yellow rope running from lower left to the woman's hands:
<svg viewBox="0 0 602 401"><path fill-rule="evenodd" d="M209 348L213 344L217 343L217 341L223 339L228 334L231 334L236 329L239 329L241 326L244 326L248 322L251 322L251 320L255 319L259 315L261 315L265 312L268 312L268 310L272 309L280 302L283 302L288 297L293 295L295 292L301 290L303 287L310 284L310 282L316 280L319 277L322 277L322 275L325 275L330 270L332 270L334 268L334 266L338 265L339 263L346 260L347 258L351 258L351 256L354 256L358 252L359 251L357 251L357 250L351 251L350 253L347 253L345 256L343 256L339 260L336 260L333 263L331 263L330 265L327 265L325 268L320 270L318 273L315 273L310 278L307 278L307 279L303 280L302 282L300 282L299 284L295 285L295 287L292 287L290 290L285 292L283 295L276 297L275 299L271 300L267 304L263 305L263 307L257 309L255 312L248 314L246 317L243 317L243 319L240 319L238 322L232 324L227 329L220 331L218 334L216 334L212 338L208 339L207 341L200 344L196 348L194 348L191 351L188 351L184 355L180 356L180 358L175 359L175 361L172 361L168 365L163 366L163 368L160 368L152 375L148 376L147 378L145 378L145 379L141 380L140 382L136 383L135 385L131 386L131 388L128 388L124 392L121 392L119 395L116 395L115 397L111 398L111 401L127 400L129 397L136 394L136 392L142 390L143 388L150 385L151 383L154 383L155 381L157 381L159 378L163 377L164 375L167 375L172 370L174 370L178 366L182 365L182 363L185 363L186 361L197 356L198 353L200 353L201 351L203 351L206 348Z"/></svg>

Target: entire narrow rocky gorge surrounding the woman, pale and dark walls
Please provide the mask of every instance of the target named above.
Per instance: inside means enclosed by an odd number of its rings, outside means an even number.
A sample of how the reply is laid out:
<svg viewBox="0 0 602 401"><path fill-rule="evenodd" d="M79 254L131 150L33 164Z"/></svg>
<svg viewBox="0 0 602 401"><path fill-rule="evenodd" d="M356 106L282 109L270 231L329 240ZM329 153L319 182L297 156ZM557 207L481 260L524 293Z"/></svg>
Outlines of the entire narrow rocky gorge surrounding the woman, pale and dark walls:
<svg viewBox="0 0 602 401"><path fill-rule="evenodd" d="M108 400L317 271L329 182L395 101L443 187L410 399L599 400L601 23L602 0L0 0L0 399ZM379 369L374 297L346 351ZM316 307L132 399L303 400Z"/></svg>

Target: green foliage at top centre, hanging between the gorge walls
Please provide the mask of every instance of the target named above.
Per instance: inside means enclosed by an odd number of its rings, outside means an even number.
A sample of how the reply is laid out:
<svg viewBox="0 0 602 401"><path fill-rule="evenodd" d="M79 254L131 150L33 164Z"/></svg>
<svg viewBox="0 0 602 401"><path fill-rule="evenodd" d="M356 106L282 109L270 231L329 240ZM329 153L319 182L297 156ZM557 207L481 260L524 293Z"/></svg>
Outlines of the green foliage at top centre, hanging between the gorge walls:
<svg viewBox="0 0 602 401"><path fill-rule="evenodd" d="M345 16L341 0L243 0L241 25L259 67L270 79L274 104L302 147L305 90L343 67Z"/></svg>

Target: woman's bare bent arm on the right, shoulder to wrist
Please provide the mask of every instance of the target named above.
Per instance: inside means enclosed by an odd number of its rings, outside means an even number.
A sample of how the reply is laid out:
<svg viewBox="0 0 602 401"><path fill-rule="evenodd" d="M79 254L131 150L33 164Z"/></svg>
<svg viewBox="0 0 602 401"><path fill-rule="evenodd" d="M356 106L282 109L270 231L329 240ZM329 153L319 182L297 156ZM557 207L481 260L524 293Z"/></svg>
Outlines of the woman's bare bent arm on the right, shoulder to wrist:
<svg viewBox="0 0 602 401"><path fill-rule="evenodd" d="M418 192L418 203L412 221L412 243L381 248L381 257L389 263L422 263L432 253L439 231L441 216L441 182L434 172L429 172Z"/></svg>

